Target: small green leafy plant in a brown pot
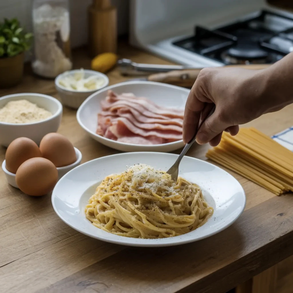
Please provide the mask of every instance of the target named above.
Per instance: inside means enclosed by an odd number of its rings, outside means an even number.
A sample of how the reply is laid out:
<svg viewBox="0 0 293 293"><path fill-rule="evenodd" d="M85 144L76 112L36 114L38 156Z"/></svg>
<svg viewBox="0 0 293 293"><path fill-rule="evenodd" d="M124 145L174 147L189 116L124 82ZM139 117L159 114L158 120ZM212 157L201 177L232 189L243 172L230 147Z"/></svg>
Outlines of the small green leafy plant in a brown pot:
<svg viewBox="0 0 293 293"><path fill-rule="evenodd" d="M24 52L30 49L32 37L16 18L0 22L0 88L15 86L21 81Z"/></svg>

